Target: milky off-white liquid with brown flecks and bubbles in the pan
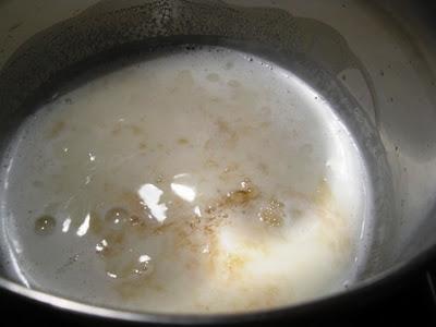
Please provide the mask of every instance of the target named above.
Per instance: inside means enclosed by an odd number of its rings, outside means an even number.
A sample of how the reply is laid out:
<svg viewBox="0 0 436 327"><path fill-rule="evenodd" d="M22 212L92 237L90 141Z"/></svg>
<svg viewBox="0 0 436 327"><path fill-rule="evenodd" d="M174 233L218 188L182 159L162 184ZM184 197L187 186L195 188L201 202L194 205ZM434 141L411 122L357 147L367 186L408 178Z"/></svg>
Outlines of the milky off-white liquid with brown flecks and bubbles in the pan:
<svg viewBox="0 0 436 327"><path fill-rule="evenodd" d="M24 283L146 312L240 312L340 290L368 204L315 92L244 53L125 66L40 108L4 158Z"/></svg>

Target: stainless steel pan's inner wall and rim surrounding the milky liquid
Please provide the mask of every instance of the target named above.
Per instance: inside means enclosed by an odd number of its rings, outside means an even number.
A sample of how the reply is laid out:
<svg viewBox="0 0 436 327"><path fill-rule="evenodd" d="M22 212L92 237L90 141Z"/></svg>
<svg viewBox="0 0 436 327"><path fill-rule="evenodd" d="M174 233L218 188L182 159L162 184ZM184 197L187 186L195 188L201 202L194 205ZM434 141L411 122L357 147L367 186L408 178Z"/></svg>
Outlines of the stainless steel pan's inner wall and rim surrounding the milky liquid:
<svg viewBox="0 0 436 327"><path fill-rule="evenodd" d="M0 2L1 148L35 104L89 65L165 47L219 45L266 57L319 92L359 140L375 194L368 259L359 281L292 307L177 316L81 304L21 284L5 244L1 293L109 319L246 322L367 299L435 258L435 12L431 1Z"/></svg>

